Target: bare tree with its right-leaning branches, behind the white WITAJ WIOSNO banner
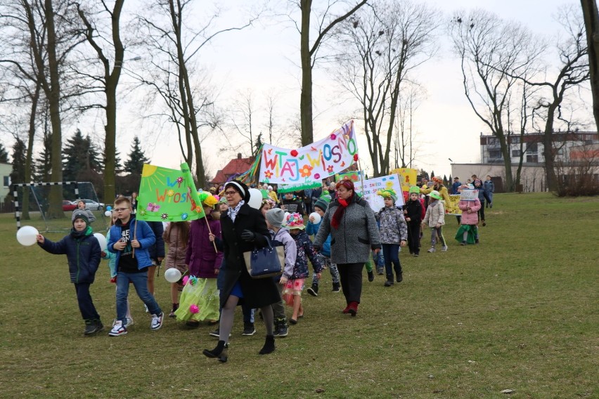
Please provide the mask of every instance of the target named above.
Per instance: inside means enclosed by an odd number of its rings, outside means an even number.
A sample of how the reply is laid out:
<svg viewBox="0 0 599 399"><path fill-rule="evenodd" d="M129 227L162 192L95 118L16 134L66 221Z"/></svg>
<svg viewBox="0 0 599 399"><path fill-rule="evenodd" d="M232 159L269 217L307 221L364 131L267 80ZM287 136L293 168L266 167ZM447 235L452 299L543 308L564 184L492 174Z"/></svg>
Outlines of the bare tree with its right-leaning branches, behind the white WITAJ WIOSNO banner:
<svg viewBox="0 0 599 399"><path fill-rule="evenodd" d="M367 0L359 0L354 3L354 6L349 11L342 15L335 16L332 13L334 8L339 5L344 5L346 2L341 0L328 0L324 11L314 12L316 16L316 39L313 43L310 42L311 32L311 17L313 15L312 0L299 0L297 6L302 12L299 27L295 22L295 27L299 32L299 57L302 63L302 94L299 100L299 112L302 122L302 145L309 145L314 142L314 129L312 124L312 68L316 61L316 53L320 48L323 40L326 39L330 31L340 22L347 20L353 13L359 10L361 6L366 4Z"/></svg>

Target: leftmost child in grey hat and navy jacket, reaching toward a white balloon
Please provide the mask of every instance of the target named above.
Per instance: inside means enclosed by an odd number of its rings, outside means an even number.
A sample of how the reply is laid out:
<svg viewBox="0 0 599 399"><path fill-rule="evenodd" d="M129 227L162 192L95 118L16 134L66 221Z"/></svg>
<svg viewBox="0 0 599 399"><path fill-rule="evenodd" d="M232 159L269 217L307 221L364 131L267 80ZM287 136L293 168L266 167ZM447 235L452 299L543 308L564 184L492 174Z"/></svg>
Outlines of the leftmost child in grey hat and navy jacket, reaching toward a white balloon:
<svg viewBox="0 0 599 399"><path fill-rule="evenodd" d="M101 248L94 232L89 227L89 219L83 211L75 212L71 232L58 242L52 242L41 234L37 244L50 254L66 255L69 263L71 282L75 284L77 303L83 320L85 335L96 334L104 329L94 301L89 294L89 286L94 282L100 266Z"/></svg>

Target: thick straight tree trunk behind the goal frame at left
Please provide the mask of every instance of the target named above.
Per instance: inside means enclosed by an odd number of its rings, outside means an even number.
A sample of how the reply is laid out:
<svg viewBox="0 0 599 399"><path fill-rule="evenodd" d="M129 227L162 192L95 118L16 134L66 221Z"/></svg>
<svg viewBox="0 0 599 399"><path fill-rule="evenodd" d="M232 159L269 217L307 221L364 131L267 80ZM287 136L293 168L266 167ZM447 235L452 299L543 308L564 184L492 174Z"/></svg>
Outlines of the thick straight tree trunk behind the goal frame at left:
<svg viewBox="0 0 599 399"><path fill-rule="evenodd" d="M54 27L54 10L52 0L45 0L46 25L48 29L48 69L50 72L50 120L52 124L52 181L63 181L63 134L60 122L60 74L56 57L56 28ZM49 195L49 208L46 217L63 218L63 186L52 185Z"/></svg>

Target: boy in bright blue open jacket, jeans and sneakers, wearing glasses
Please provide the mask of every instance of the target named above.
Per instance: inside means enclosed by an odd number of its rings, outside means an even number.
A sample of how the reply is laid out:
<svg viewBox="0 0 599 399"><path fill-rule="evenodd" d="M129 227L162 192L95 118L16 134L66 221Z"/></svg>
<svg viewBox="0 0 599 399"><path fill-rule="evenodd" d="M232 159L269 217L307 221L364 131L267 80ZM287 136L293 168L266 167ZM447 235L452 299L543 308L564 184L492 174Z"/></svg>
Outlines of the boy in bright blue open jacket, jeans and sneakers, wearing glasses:
<svg viewBox="0 0 599 399"><path fill-rule="evenodd" d="M131 215L131 202L127 197L115 199L115 207L112 210L117 214L118 220L110 228L107 249L116 254L117 321L108 335L127 334L125 324L129 282L133 283L139 299L148 306L152 315L150 328L160 329L164 313L148 290L148 267L152 266L148 248L156 242L156 237L148 223L138 221Z"/></svg>

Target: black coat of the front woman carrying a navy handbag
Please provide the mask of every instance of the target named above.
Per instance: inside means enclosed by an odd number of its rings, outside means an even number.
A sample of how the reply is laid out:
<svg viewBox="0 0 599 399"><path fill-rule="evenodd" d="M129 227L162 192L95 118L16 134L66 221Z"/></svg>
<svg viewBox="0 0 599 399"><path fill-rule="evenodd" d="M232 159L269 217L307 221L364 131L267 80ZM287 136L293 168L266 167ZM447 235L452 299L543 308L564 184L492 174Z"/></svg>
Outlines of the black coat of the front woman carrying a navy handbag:
<svg viewBox="0 0 599 399"><path fill-rule="evenodd" d="M256 240L254 242L242 240L241 233L243 230L250 230L255 233ZM250 308L262 308L281 301L281 295L278 293L274 280L272 278L253 279L250 277L243 259L243 252L252 251L254 247L262 248L266 246L264 236L269 235L269 230L266 228L266 221L262 213L248 204L243 204L234 223L228 217L228 214L221 215L221 231L226 263L224 285L221 292L221 306L226 303L238 280L243 292L241 301ZM223 270L221 270L221 273L223 273Z"/></svg>

